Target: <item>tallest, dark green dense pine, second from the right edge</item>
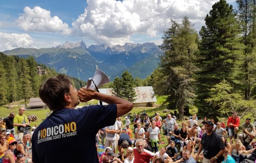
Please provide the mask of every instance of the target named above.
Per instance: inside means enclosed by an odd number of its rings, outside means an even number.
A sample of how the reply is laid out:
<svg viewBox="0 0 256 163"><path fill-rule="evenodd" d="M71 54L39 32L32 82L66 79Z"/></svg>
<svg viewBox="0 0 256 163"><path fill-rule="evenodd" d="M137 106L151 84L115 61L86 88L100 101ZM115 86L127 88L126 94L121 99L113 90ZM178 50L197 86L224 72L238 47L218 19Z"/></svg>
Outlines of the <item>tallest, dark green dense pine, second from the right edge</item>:
<svg viewBox="0 0 256 163"><path fill-rule="evenodd" d="M241 28L232 5L220 0L212 6L205 17L205 25L200 31L200 55L197 72L199 113L201 115L218 115L204 100L209 95L209 89L221 80L232 83L232 76L238 58L241 58L243 44L240 43ZM209 111L209 110L212 111Z"/></svg>

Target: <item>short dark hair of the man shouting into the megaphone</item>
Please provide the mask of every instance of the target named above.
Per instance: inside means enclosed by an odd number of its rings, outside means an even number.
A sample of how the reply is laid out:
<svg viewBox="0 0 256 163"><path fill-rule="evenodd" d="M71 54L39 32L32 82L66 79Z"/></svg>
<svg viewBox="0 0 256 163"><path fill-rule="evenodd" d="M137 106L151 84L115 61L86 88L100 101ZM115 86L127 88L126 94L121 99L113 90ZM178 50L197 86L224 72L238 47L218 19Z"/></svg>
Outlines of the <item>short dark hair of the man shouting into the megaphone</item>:
<svg viewBox="0 0 256 163"><path fill-rule="evenodd" d="M66 75L48 78L39 88L39 97L50 108L59 110L66 106L64 95L70 92L72 81Z"/></svg>

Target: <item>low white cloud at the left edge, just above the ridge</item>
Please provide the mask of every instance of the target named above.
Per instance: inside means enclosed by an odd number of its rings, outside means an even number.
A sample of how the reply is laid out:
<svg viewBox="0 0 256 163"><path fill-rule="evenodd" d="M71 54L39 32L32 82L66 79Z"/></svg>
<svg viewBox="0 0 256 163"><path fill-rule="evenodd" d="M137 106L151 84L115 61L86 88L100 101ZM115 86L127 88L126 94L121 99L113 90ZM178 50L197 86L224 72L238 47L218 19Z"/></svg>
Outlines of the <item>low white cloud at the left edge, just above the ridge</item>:
<svg viewBox="0 0 256 163"><path fill-rule="evenodd" d="M0 32L0 50L12 50L19 47L28 48L32 43L32 37L28 34Z"/></svg>

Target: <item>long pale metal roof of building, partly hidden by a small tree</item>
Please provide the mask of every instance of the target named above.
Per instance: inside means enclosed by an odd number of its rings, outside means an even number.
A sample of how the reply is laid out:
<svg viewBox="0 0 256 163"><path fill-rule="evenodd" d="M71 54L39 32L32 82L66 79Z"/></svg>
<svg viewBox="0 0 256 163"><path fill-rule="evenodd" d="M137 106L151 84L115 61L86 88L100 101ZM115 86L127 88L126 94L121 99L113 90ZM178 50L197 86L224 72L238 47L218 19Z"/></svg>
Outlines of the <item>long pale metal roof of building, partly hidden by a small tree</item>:
<svg viewBox="0 0 256 163"><path fill-rule="evenodd" d="M133 103L157 102L152 86L135 87L136 100ZM99 92L106 95L113 95L112 88L99 89Z"/></svg>

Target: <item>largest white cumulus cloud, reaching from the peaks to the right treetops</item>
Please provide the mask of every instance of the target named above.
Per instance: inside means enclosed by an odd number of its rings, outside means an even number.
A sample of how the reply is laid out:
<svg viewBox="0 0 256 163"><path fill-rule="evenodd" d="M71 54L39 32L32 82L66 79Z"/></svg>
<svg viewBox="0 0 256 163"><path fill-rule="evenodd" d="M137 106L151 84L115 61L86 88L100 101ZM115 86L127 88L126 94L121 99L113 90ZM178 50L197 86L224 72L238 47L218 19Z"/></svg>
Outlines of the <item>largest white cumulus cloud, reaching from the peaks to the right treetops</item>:
<svg viewBox="0 0 256 163"><path fill-rule="evenodd" d="M218 0L88 0L88 7L73 22L73 34L98 44L131 42L131 35L156 36L170 27L170 18L184 16L200 30L204 17Z"/></svg>

